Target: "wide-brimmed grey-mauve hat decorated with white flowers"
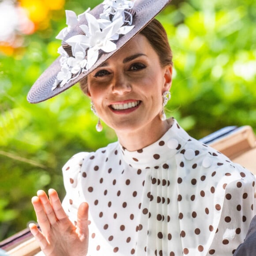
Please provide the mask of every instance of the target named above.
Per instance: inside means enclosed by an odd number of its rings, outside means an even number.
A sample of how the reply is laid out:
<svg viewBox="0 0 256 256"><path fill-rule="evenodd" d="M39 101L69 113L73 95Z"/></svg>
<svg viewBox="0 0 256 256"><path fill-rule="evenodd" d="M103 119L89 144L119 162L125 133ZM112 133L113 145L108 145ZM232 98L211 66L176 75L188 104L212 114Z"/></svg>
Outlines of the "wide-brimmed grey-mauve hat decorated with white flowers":
<svg viewBox="0 0 256 256"><path fill-rule="evenodd" d="M53 98L85 78L138 34L171 0L104 0L76 17L66 11L68 27L56 38L60 56L31 87L27 100Z"/></svg>

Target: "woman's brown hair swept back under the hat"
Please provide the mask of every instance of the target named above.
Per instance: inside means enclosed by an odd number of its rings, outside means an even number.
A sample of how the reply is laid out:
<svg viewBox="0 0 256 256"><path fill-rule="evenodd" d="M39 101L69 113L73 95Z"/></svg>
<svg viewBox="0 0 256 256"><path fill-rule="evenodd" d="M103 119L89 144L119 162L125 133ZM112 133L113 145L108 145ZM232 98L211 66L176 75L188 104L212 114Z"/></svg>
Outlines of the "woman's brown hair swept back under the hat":
<svg viewBox="0 0 256 256"><path fill-rule="evenodd" d="M139 34L147 38L157 53L162 67L170 64L173 65L173 53L169 45L166 30L157 19L153 19L148 23ZM79 83L83 92L87 94L87 77L82 79Z"/></svg>

